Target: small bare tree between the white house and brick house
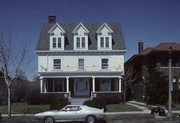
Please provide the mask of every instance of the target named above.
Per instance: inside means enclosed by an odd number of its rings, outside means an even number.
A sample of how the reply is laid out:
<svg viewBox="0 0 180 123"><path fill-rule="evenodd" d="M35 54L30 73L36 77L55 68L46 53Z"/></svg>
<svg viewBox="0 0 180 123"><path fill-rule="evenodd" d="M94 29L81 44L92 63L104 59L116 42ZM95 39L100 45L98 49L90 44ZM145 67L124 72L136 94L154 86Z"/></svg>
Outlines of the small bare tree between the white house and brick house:
<svg viewBox="0 0 180 123"><path fill-rule="evenodd" d="M125 68L125 75L122 78L122 84L123 84L123 102L126 102L126 92L127 89L135 83L135 81L138 78L138 74L133 70L133 67L126 67Z"/></svg>

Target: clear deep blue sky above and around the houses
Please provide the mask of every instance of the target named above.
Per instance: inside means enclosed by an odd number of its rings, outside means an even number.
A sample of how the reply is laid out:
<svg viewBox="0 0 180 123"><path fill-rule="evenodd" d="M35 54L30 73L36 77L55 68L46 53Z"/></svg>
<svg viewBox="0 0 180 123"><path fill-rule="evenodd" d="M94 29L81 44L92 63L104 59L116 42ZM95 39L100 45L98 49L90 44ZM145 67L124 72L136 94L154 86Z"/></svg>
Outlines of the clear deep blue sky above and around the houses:
<svg viewBox="0 0 180 123"><path fill-rule="evenodd" d="M119 22L127 47L125 60L137 53L139 40L144 47L180 43L180 0L1 0L0 32L12 30L16 40L33 41L30 79L37 74L34 51L40 28L51 14L60 23Z"/></svg>

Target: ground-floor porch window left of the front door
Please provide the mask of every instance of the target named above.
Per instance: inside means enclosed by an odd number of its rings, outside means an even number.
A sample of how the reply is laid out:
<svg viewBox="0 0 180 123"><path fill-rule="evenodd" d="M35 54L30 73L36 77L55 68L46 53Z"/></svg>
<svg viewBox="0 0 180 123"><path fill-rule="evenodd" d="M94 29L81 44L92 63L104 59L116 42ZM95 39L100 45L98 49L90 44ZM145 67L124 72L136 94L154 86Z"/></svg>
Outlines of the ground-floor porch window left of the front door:
<svg viewBox="0 0 180 123"><path fill-rule="evenodd" d="M63 79L54 80L54 92L64 92Z"/></svg>

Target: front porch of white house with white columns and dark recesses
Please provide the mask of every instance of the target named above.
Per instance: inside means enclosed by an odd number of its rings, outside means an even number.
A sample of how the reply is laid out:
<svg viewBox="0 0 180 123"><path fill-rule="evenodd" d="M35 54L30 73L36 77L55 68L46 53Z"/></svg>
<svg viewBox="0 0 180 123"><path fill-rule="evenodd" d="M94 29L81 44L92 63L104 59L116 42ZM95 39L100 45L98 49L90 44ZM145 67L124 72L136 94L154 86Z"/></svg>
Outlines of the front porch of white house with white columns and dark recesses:
<svg viewBox="0 0 180 123"><path fill-rule="evenodd" d="M59 93L71 98L93 98L99 94L120 94L120 77L40 77L41 93Z"/></svg>

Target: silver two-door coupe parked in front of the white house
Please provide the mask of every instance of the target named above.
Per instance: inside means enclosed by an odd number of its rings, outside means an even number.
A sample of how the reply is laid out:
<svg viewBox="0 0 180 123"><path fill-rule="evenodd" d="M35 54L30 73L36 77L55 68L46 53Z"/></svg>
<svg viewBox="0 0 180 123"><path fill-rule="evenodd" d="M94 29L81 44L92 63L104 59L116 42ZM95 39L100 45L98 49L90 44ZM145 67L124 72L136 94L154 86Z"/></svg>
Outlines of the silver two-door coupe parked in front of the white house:
<svg viewBox="0 0 180 123"><path fill-rule="evenodd" d="M96 120L104 119L104 117L104 109L92 108L86 105L67 105L61 110L35 114L35 118L44 120L44 123L58 121L86 121L87 123L94 123Z"/></svg>

